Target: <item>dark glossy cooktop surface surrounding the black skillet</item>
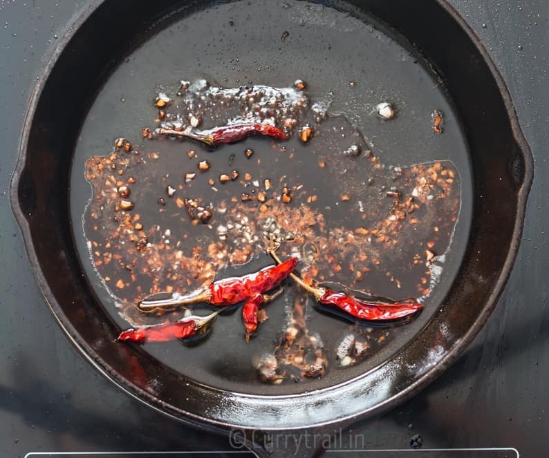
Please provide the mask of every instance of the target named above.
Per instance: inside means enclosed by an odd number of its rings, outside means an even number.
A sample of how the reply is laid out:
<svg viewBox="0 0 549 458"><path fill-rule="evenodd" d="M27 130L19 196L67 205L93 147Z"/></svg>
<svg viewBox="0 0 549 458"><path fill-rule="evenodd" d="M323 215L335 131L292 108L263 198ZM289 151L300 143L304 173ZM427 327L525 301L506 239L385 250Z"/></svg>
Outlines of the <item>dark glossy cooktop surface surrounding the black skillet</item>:
<svg viewBox="0 0 549 458"><path fill-rule="evenodd" d="M409 448L411 437L420 434L424 449L514 447L523 457L541 457L549 448L549 311L543 280L549 274L549 2L450 3L490 50L532 148L535 177L523 240L494 314L460 359L411 401L353 432L361 435L361 448L362 440L365 448ZM10 173L30 90L55 40L83 5L0 3L0 455L230 450L225 437L197 432L121 394L84 361L41 297L10 211ZM345 433L338 445L349 446L348 437Z"/></svg>

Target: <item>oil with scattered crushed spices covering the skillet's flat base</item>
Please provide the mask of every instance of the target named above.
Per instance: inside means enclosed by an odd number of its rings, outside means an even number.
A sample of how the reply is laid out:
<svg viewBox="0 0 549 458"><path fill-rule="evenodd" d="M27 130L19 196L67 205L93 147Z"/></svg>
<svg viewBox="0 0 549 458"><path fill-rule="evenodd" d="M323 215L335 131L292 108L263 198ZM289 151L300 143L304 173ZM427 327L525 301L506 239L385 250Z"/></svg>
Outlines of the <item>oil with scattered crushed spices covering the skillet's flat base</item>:
<svg viewBox="0 0 549 458"><path fill-rule="evenodd" d="M308 280L425 304L410 323L371 327L319 309L288 279L249 342L232 307L192 346L144 345L217 388L301 392L369 370L436 313L467 240L467 146L434 75L371 21L302 2L239 5L165 28L106 82L75 151L75 240L121 328L185 316L140 314L134 305L151 293L272 264L268 239L281 258L300 258ZM254 27L236 27L248 15ZM218 35L205 23L220 24ZM173 133L227 122L272 122L289 138L211 148ZM127 140L116 148L118 137Z"/></svg>

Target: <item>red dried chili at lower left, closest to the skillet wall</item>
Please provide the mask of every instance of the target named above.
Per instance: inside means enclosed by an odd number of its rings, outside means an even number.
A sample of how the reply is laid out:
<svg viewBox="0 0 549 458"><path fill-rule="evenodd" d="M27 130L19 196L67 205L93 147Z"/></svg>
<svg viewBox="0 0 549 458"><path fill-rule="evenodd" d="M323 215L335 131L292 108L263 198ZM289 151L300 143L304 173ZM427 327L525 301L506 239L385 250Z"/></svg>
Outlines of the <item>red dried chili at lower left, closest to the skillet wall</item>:
<svg viewBox="0 0 549 458"><path fill-rule="evenodd" d="M162 323L142 327L131 327L118 336L119 341L129 342L167 342L176 338L187 338L194 336L198 330L212 322L219 313L214 312L208 316L188 316L173 323Z"/></svg>

